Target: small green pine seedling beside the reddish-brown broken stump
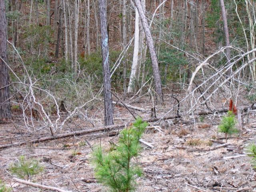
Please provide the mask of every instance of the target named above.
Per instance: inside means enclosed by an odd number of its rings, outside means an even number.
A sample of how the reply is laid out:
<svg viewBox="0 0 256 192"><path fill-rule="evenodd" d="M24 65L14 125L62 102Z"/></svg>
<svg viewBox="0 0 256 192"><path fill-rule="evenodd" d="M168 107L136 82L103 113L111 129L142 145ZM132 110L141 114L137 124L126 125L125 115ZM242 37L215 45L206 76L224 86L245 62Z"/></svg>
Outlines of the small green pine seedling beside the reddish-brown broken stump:
<svg viewBox="0 0 256 192"><path fill-rule="evenodd" d="M218 126L218 132L225 133L226 142L228 141L228 134L238 133L236 128L236 118L232 111L228 111L227 116L224 116Z"/></svg>

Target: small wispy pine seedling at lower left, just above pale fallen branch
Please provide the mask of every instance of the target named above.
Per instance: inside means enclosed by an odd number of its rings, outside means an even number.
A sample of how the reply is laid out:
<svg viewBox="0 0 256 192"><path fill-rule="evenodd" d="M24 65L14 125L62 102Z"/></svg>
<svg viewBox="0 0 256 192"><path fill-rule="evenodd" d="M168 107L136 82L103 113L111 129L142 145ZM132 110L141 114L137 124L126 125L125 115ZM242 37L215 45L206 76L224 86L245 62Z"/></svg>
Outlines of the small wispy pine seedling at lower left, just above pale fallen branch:
<svg viewBox="0 0 256 192"><path fill-rule="evenodd" d="M20 156L18 162L10 165L9 170L12 174L22 179L29 179L31 176L36 175L44 170L38 160L26 159L25 156Z"/></svg>

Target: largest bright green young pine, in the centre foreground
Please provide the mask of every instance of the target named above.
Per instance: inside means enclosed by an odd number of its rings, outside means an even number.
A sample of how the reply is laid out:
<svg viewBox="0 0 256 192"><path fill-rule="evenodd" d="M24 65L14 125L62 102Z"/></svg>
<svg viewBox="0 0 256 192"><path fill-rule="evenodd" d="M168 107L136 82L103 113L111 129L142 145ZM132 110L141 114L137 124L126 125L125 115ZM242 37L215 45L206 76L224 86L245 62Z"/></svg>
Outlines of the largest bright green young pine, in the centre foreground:
<svg viewBox="0 0 256 192"><path fill-rule="evenodd" d="M148 123L136 119L133 126L120 132L115 150L104 153L101 147L95 148L93 163L95 176L99 182L108 186L113 192L134 191L136 177L141 170L132 160L139 155L141 138Z"/></svg>

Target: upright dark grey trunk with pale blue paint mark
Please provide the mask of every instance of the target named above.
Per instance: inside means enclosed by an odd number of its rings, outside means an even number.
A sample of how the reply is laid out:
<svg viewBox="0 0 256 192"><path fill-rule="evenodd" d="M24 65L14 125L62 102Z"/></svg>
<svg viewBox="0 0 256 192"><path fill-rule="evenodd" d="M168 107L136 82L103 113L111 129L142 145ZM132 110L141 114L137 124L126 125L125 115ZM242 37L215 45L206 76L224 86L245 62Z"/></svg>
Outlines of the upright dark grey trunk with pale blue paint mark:
<svg viewBox="0 0 256 192"><path fill-rule="evenodd" d="M105 125L112 125L113 106L111 94L111 80L109 70L109 49L108 49L108 31L107 31L107 6L106 0L100 0L100 28L101 28L101 48L102 48L102 66L104 81L104 107L105 107Z"/></svg>

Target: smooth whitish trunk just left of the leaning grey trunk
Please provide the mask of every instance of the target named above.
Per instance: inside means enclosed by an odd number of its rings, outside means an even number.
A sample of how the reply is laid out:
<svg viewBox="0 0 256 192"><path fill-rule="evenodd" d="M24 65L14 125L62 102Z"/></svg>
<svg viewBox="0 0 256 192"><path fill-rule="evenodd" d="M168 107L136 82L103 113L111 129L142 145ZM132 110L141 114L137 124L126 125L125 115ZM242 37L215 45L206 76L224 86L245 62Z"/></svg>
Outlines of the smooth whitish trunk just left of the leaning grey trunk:
<svg viewBox="0 0 256 192"><path fill-rule="evenodd" d="M134 90L134 82L136 78L136 70L138 67L138 54L139 54L139 37L140 37L140 16L138 10L135 10L135 34L134 34L134 50L133 50L133 59L132 59L132 70L130 74L130 80L128 84L127 92L131 93Z"/></svg>

